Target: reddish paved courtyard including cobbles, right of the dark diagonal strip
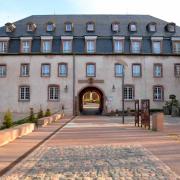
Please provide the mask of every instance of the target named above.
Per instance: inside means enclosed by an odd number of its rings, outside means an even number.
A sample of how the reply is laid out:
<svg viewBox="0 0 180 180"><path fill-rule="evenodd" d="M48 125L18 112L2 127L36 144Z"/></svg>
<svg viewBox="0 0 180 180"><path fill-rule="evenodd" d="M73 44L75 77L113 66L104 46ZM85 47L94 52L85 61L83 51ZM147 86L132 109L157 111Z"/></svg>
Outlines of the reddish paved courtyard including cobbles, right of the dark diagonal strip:
<svg viewBox="0 0 180 180"><path fill-rule="evenodd" d="M1 179L180 179L180 141L120 118L80 116ZM127 122L126 121L126 122ZM179 125L178 119L175 124ZM176 135L180 126L176 125Z"/></svg>

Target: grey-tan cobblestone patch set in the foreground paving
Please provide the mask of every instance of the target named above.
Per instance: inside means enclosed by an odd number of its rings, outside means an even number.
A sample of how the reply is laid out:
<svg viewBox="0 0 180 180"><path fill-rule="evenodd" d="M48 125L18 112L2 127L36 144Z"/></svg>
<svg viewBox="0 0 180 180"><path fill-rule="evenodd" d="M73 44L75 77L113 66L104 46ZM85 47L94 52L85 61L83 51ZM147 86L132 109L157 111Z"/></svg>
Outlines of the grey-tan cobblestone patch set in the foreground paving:
<svg viewBox="0 0 180 180"><path fill-rule="evenodd" d="M41 146L2 180L177 180L142 146Z"/></svg>

